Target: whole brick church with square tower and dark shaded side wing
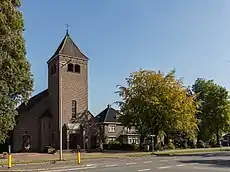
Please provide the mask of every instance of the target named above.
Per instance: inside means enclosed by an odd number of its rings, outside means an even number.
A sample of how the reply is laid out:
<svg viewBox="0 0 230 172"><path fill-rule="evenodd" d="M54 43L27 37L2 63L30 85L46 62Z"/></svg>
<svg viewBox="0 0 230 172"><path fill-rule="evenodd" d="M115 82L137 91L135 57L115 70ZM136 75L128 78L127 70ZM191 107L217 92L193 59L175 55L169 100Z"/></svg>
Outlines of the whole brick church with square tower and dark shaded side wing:
<svg viewBox="0 0 230 172"><path fill-rule="evenodd" d="M64 150L97 146L96 118L88 110L88 60L67 31L47 61L48 88L17 109L13 152L59 149L60 128Z"/></svg>

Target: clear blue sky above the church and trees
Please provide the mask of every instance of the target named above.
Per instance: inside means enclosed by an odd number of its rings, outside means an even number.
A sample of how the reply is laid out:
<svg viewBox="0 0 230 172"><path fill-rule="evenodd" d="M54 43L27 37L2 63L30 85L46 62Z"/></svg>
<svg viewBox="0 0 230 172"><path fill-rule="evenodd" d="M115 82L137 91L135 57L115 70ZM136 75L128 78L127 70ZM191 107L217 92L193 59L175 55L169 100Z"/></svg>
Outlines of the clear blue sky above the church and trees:
<svg viewBox="0 0 230 172"><path fill-rule="evenodd" d="M230 89L228 0L22 0L34 94L47 88L46 61L65 35L89 58L89 109L118 100L116 85L143 69L176 68L186 85L197 77Z"/></svg>

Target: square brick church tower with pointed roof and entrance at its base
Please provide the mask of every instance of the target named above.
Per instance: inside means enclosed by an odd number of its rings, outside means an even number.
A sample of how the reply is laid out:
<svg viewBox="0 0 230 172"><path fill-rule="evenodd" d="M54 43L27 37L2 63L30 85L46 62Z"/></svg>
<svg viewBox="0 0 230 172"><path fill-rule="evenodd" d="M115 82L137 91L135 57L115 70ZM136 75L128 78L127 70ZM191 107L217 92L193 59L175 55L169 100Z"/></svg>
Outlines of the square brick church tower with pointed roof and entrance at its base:
<svg viewBox="0 0 230 172"><path fill-rule="evenodd" d="M56 147L60 146L60 115L63 149L73 149L76 144L84 147L85 138L80 124L77 124L75 119L88 113L88 58L79 50L67 31L47 64L50 112L53 116Z"/></svg>

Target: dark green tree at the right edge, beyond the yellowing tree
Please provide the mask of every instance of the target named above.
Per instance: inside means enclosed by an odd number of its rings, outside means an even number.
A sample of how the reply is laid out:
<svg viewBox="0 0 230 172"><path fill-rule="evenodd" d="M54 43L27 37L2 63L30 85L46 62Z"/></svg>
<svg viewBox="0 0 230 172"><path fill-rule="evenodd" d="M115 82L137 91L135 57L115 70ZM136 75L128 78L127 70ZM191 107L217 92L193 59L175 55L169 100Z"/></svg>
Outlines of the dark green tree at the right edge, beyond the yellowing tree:
<svg viewBox="0 0 230 172"><path fill-rule="evenodd" d="M226 88L213 80L198 78L192 86L200 102L197 117L201 120L198 139L210 141L213 135L219 143L222 132L230 129L230 102Z"/></svg>

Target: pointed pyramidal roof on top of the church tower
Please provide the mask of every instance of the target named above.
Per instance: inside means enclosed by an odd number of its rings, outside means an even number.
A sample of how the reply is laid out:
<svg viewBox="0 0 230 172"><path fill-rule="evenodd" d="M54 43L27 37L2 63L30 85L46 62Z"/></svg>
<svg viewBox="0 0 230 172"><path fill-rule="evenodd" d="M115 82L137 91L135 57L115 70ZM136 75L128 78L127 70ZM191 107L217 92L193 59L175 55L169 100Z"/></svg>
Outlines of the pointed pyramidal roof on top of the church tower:
<svg viewBox="0 0 230 172"><path fill-rule="evenodd" d="M61 41L60 45L58 46L57 50L53 54L53 56L48 60L52 60L57 55L67 55L71 57L78 57L83 60L88 60L88 57L86 57L80 49L77 47L77 45L74 43L68 32L66 33L65 37Z"/></svg>

